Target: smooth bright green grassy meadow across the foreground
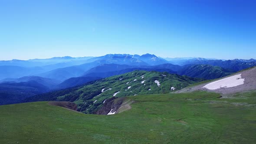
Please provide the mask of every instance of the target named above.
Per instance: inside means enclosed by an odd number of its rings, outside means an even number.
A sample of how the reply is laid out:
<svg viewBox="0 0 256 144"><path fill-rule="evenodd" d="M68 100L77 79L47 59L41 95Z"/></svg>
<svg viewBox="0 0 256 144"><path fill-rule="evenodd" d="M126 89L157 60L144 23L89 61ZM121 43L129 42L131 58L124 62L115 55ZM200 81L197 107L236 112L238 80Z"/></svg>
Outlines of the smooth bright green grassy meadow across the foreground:
<svg viewBox="0 0 256 144"><path fill-rule="evenodd" d="M116 115L82 114L47 102L3 105L0 143L254 143L256 92L218 96L131 96L137 102Z"/></svg>

